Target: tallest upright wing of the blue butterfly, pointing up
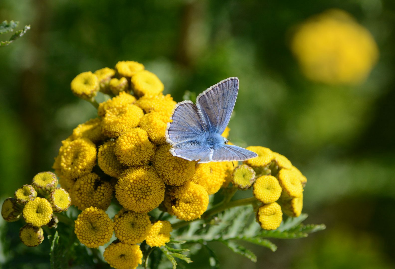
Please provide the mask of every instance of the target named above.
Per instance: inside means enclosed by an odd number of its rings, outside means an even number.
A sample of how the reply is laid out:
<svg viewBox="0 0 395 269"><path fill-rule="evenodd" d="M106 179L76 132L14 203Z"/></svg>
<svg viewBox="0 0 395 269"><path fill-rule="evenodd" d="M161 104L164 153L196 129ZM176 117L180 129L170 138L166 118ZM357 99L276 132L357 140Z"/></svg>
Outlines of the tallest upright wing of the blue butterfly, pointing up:
<svg viewBox="0 0 395 269"><path fill-rule="evenodd" d="M202 120L209 131L222 134L229 123L239 91L239 79L227 78L211 86L196 98Z"/></svg>

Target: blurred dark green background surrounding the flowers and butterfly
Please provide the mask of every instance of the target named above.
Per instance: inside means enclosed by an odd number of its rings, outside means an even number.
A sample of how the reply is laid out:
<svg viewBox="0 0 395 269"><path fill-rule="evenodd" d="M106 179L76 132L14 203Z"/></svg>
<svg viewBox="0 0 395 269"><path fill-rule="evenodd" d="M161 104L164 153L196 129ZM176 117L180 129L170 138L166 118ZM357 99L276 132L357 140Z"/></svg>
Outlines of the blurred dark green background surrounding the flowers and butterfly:
<svg viewBox="0 0 395 269"><path fill-rule="evenodd" d="M347 11L376 40L380 58L362 84L311 82L291 53L293 27L328 8ZM222 268L395 267L393 0L1 0L4 20L31 30L0 48L1 202L51 170L60 141L95 117L70 92L77 74L135 60L176 101L237 76L232 142L287 156L308 179L308 222L327 230L275 241L275 253L249 246L257 263L213 245ZM48 245L24 247L18 223L0 225L0 266L49 266ZM207 257L199 252L190 268L206 268Z"/></svg>

